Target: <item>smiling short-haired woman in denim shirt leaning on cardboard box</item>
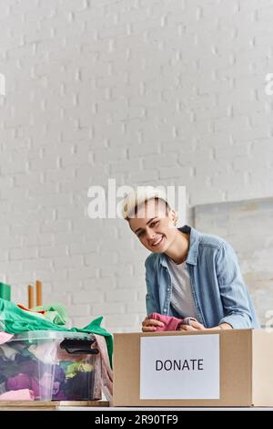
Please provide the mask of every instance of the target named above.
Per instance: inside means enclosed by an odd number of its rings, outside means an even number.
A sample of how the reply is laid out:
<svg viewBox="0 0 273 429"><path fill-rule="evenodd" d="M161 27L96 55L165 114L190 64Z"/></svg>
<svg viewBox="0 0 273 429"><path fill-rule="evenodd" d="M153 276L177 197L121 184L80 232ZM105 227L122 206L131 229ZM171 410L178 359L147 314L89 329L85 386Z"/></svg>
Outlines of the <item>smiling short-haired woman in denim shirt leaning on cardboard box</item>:
<svg viewBox="0 0 273 429"><path fill-rule="evenodd" d="M184 330L259 328L238 259L226 240L177 228L177 213L157 189L149 186L126 196L123 216L147 256L147 315L153 312L185 319ZM145 332L162 326L159 320L142 323Z"/></svg>

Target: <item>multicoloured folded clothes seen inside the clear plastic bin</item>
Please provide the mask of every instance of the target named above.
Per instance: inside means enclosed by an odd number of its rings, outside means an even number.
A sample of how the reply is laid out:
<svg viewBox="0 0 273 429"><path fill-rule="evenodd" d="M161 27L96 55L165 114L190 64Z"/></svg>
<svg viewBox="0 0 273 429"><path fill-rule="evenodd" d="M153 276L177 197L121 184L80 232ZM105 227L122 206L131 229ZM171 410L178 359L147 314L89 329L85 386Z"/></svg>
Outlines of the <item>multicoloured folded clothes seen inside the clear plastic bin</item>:
<svg viewBox="0 0 273 429"><path fill-rule="evenodd" d="M0 400L90 400L94 355L58 353L59 340L11 340L0 346ZM56 363L57 362L57 363Z"/></svg>

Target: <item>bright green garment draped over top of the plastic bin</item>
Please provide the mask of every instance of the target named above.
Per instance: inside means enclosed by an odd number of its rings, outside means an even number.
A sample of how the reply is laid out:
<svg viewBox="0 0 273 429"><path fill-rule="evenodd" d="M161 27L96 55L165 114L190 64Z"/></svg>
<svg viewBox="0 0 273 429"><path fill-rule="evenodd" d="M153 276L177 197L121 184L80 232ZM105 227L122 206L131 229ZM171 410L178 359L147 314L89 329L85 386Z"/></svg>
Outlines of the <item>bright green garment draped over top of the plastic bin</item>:
<svg viewBox="0 0 273 429"><path fill-rule="evenodd" d="M92 320L84 328L71 328L69 330L65 326L61 327L55 325L50 320L37 318L31 311L20 309L14 302L0 298L0 330L4 330L11 334L19 334L25 332L25 330L61 330L66 332L86 332L102 335L106 337L109 361L112 366L113 337L110 332L101 328L100 324L102 319L103 317L100 316Z"/></svg>

